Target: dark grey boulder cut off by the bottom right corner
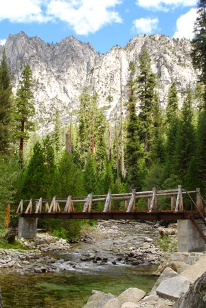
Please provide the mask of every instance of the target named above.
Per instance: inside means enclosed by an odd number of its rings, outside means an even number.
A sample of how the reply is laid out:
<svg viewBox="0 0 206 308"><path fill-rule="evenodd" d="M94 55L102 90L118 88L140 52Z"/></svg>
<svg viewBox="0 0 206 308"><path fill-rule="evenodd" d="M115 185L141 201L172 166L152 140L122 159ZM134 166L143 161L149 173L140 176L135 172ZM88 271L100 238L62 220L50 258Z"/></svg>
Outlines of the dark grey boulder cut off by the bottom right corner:
<svg viewBox="0 0 206 308"><path fill-rule="evenodd" d="M191 285L179 300L176 301L173 308L205 308L206 307L206 272Z"/></svg>

